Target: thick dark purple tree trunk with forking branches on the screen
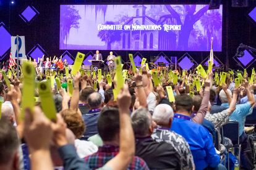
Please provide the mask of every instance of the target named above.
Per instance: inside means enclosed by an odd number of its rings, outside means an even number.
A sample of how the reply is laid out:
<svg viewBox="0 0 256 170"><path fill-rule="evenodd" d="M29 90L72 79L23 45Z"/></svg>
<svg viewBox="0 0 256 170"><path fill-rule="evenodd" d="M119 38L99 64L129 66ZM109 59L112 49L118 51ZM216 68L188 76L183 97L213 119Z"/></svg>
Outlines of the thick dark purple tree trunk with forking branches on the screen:
<svg viewBox="0 0 256 170"><path fill-rule="evenodd" d="M184 18L184 22L182 23L181 15L176 12L176 10L171 7L171 5L166 5L166 9L169 11L171 15L163 15L160 18L161 20L168 20L168 18L176 18L176 22L178 25L182 25L181 31L179 31L179 41L178 41L178 49L186 50L188 49L189 44L189 36L191 31L194 29L193 25L202 17L205 12L208 10L208 6L203 7L195 13L196 5L184 5L184 14L187 14Z"/></svg>

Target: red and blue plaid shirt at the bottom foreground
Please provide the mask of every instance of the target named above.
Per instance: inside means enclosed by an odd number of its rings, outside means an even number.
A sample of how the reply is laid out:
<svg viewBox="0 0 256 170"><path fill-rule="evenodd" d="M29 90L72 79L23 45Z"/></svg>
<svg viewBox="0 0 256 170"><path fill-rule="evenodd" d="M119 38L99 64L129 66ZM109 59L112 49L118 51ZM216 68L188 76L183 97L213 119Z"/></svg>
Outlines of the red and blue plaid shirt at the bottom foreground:
<svg viewBox="0 0 256 170"><path fill-rule="evenodd" d="M85 157L85 163L87 163L90 169L101 168L109 160L114 158L118 152L119 147L115 147L113 145L103 145L103 147L99 147L98 152ZM148 166L145 161L142 160L142 158L134 156L132 163L130 163L127 169L148 169Z"/></svg>

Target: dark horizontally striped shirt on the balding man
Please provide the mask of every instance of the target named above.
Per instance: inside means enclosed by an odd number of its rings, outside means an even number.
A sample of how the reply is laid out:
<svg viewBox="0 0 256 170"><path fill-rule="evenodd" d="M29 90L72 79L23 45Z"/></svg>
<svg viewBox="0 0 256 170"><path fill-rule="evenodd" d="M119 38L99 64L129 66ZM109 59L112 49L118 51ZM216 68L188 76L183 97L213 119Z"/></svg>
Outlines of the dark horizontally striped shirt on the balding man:
<svg viewBox="0 0 256 170"><path fill-rule="evenodd" d="M87 140L89 137L98 134L98 117L100 115L99 109L88 111L85 115L82 115L83 122L85 123L86 130L82 136L82 140Z"/></svg>

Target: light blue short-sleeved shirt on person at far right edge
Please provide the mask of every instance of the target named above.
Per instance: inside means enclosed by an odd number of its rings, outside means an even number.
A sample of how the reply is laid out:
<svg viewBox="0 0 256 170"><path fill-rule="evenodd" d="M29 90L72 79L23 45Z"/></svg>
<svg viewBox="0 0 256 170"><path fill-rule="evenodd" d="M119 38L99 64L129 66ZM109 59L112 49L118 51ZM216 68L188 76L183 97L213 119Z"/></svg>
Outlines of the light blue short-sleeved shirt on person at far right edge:
<svg viewBox="0 0 256 170"><path fill-rule="evenodd" d="M228 106L228 103L222 103L223 106ZM244 123L247 115L252 114L252 107L250 102L236 105L236 110L233 111L232 115L229 116L229 120L237 121L239 124L239 136L244 132Z"/></svg>

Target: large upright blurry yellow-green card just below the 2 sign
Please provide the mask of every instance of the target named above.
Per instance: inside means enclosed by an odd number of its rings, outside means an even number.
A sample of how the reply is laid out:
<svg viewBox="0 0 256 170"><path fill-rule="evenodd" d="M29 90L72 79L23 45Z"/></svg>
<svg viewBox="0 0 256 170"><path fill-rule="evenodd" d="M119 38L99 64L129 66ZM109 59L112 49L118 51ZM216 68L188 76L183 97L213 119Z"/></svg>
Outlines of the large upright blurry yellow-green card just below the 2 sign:
<svg viewBox="0 0 256 170"><path fill-rule="evenodd" d="M23 70L23 95L22 95L22 114L21 119L25 116L25 109L29 108L33 112L35 106L35 68L30 62L24 62L22 64Z"/></svg>

